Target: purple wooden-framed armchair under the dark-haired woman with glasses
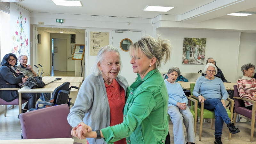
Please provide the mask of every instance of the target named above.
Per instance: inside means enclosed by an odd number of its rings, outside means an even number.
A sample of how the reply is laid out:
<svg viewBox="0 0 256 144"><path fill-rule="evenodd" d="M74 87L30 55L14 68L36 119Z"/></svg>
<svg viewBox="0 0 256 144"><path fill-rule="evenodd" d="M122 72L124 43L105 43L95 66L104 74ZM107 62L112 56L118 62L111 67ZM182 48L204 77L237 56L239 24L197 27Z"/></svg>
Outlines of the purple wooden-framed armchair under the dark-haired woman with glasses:
<svg viewBox="0 0 256 144"><path fill-rule="evenodd" d="M18 91L19 88L1 88L0 91L10 90L10 91ZM0 98L0 105L4 106L4 116L6 117L7 105L19 105L19 114L21 113L21 105L28 100L21 99L21 93L19 93L19 98L12 100L11 102L6 102L5 100ZM12 106L13 108L13 106Z"/></svg>

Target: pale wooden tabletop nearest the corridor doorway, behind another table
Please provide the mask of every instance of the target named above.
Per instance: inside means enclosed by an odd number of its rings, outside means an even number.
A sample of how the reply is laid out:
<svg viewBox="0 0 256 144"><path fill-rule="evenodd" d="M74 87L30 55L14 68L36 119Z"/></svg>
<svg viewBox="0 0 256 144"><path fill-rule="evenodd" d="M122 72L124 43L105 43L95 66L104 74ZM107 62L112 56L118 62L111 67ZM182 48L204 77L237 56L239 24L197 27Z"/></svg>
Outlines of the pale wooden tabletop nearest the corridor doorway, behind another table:
<svg viewBox="0 0 256 144"><path fill-rule="evenodd" d="M61 78L60 80L55 81L54 83L82 83L84 77L79 76L44 76L42 80L45 84L50 83L55 80L55 78Z"/></svg>

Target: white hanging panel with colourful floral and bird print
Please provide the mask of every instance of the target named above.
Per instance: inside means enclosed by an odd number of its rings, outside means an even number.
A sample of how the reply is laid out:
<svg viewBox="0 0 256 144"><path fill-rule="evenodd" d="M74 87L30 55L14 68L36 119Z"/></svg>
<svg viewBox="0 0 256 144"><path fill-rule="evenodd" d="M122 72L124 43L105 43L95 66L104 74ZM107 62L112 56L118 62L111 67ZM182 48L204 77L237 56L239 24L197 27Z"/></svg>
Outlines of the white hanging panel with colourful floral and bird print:
<svg viewBox="0 0 256 144"><path fill-rule="evenodd" d="M11 15L11 53L17 58L25 54L30 58L29 12L16 4L10 5Z"/></svg>

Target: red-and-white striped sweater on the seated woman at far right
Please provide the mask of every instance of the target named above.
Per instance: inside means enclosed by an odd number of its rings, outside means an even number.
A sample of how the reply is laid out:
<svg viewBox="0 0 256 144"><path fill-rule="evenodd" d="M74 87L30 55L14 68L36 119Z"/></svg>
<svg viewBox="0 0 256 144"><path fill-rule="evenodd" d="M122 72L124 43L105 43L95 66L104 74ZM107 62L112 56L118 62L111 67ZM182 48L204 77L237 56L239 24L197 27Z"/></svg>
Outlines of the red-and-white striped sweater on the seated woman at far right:
<svg viewBox="0 0 256 144"><path fill-rule="evenodd" d="M250 99L256 95L256 80L248 76L243 76L237 80L237 89L241 98ZM252 103L244 100L245 107L251 106Z"/></svg>

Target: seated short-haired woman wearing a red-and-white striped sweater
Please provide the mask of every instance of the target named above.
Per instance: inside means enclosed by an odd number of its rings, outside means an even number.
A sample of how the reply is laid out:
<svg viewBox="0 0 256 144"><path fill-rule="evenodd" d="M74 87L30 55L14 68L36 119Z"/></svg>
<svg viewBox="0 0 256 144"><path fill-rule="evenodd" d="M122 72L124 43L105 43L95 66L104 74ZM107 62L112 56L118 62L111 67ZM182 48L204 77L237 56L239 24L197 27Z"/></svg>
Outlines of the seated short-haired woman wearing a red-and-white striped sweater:
<svg viewBox="0 0 256 144"><path fill-rule="evenodd" d="M237 80L237 89L241 98L256 101L256 80L251 78L254 73L255 65L248 63L241 67L243 77ZM252 110L252 102L244 100L245 108Z"/></svg>

